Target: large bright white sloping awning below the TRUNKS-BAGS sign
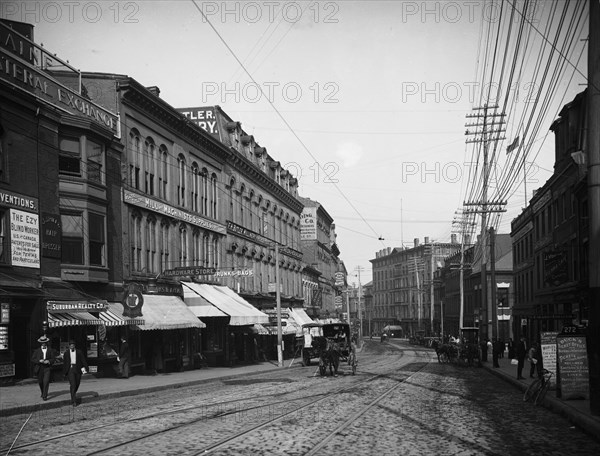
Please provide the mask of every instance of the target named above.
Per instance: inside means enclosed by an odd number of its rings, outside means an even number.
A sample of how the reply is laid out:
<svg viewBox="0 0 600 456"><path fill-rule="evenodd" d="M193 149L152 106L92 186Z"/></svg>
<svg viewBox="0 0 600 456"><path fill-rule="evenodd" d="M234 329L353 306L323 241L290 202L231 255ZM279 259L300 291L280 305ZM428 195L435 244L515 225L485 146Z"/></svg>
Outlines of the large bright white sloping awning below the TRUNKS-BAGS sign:
<svg viewBox="0 0 600 456"><path fill-rule="evenodd" d="M229 315L231 326L269 322L267 314L258 310L228 287L193 282L182 282L182 285L202 296L221 312Z"/></svg>

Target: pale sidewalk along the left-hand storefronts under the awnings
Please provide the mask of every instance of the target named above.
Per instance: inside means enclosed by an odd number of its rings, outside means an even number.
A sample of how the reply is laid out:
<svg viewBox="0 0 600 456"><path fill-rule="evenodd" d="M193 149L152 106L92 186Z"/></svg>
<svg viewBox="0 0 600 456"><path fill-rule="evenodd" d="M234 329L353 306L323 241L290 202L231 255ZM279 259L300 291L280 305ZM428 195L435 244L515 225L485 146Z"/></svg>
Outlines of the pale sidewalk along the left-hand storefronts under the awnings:
<svg viewBox="0 0 600 456"><path fill-rule="evenodd" d="M301 366L302 360L300 358L286 359L283 364L284 369L290 366L294 368ZM271 361L247 366L207 367L169 374L135 375L128 379L96 378L87 374L81 379L77 398L80 403L86 404L102 399L134 396L168 388L197 385L215 379L251 376L279 369L277 361ZM43 401L40 397L40 388L37 380L33 378L23 380L14 386L0 388L0 417L49 410L70 404L68 381L50 383L47 401Z"/></svg>

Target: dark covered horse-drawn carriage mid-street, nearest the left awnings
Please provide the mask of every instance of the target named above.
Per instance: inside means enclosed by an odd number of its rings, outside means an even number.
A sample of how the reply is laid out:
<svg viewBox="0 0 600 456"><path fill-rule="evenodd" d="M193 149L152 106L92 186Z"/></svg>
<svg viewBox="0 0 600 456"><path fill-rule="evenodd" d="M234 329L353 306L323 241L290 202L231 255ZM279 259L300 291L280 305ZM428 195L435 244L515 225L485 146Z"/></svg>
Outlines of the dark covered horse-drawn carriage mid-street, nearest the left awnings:
<svg viewBox="0 0 600 456"><path fill-rule="evenodd" d="M302 362L310 366L312 359L318 358L319 372L337 375L340 362L347 362L356 373L356 352L352 345L352 334L348 323L308 323L302 326L304 345Z"/></svg>

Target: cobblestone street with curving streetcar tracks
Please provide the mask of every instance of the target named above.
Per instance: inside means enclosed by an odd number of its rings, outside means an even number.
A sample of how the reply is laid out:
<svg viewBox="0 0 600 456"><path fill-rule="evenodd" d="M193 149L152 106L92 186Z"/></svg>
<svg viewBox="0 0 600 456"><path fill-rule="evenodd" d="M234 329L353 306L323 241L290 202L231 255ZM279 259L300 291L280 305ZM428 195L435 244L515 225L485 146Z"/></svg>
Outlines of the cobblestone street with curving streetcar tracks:
<svg viewBox="0 0 600 456"><path fill-rule="evenodd" d="M597 441L486 369L426 359L430 351L371 343L356 376L298 367L47 410L10 454L597 454ZM27 419L3 419L4 454Z"/></svg>

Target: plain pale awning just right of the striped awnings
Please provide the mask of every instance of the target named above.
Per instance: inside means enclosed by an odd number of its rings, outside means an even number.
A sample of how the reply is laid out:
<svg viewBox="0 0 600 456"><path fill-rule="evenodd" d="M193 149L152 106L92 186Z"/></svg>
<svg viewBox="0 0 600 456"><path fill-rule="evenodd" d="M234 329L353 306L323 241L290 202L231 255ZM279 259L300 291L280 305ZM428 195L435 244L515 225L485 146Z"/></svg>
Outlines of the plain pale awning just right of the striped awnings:
<svg viewBox="0 0 600 456"><path fill-rule="evenodd" d="M144 324L134 328L143 331L153 329L206 328L196 315L177 296L142 295Z"/></svg>

